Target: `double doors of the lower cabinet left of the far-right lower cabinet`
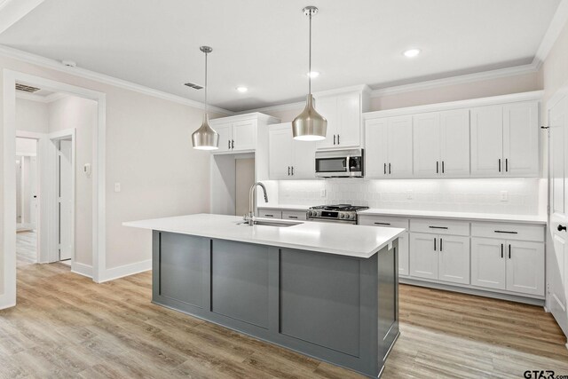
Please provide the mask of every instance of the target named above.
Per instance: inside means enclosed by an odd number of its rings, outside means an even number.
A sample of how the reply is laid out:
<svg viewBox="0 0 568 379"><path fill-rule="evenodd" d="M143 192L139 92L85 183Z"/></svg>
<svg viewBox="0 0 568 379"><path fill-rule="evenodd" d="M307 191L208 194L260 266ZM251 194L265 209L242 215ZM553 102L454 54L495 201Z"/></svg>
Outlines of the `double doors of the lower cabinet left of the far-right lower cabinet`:
<svg viewBox="0 0 568 379"><path fill-rule="evenodd" d="M469 284L469 237L410 233L410 276Z"/></svg>

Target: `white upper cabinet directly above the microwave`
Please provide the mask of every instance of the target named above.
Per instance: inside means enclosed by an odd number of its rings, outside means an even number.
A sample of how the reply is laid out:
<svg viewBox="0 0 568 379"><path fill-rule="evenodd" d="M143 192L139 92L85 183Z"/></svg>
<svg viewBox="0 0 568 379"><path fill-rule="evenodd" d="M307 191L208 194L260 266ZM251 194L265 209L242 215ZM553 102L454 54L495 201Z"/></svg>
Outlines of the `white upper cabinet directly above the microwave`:
<svg viewBox="0 0 568 379"><path fill-rule="evenodd" d="M314 95L315 108L327 119L327 137L318 150L362 146L362 113L367 111L367 87L359 91Z"/></svg>

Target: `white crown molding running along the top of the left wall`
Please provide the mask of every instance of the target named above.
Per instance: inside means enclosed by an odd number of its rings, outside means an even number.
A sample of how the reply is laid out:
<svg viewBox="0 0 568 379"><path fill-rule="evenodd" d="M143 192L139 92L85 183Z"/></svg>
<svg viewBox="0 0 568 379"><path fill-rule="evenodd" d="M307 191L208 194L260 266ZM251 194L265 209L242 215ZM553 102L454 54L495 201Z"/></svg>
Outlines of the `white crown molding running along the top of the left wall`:
<svg viewBox="0 0 568 379"><path fill-rule="evenodd" d="M182 104L185 106L195 107L199 109L205 109L205 104L199 101L185 99L182 98L181 96L173 95L171 93L164 91L154 90L153 88L149 88L137 83L131 83L122 79L115 78L114 76L99 74L97 72L87 70L85 68L67 67L55 59L45 58L36 54L29 53L27 51L20 51L18 49L13 49L12 47L4 46L1 44L0 44L0 56L17 59L20 61L31 63L39 67L50 68L52 70L64 72L68 75L80 76L85 79L89 79L93 82L109 84L114 87L119 87L125 90L142 93L148 96L152 96L154 98L172 101L177 104ZM209 106L208 109L210 112L218 114L225 114L225 115L234 114L234 112L219 107Z"/></svg>

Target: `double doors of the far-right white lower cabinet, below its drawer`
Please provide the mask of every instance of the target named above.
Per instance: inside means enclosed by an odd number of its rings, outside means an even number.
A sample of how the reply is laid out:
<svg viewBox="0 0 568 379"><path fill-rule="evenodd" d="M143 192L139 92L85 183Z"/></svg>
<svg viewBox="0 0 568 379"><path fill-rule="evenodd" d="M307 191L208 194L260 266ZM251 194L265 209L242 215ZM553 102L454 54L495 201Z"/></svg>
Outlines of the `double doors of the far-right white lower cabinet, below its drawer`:
<svg viewBox="0 0 568 379"><path fill-rule="evenodd" d="M473 237L471 284L544 296L544 243Z"/></svg>

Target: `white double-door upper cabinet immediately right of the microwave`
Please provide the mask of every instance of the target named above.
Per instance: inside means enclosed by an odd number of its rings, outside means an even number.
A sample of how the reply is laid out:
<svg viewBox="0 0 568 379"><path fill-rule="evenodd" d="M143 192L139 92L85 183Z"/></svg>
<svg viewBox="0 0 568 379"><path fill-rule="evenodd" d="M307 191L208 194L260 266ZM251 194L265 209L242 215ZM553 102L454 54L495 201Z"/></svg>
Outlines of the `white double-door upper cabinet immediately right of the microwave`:
<svg viewBox="0 0 568 379"><path fill-rule="evenodd" d="M367 178L412 177L412 116L372 119L365 126Z"/></svg>

